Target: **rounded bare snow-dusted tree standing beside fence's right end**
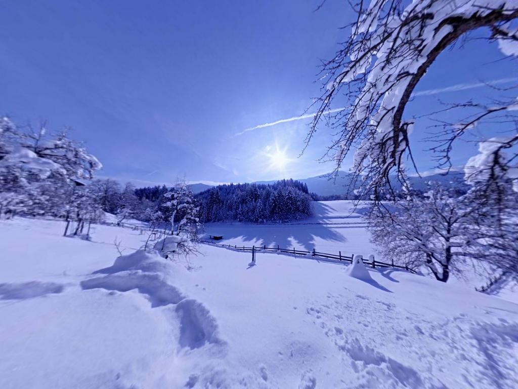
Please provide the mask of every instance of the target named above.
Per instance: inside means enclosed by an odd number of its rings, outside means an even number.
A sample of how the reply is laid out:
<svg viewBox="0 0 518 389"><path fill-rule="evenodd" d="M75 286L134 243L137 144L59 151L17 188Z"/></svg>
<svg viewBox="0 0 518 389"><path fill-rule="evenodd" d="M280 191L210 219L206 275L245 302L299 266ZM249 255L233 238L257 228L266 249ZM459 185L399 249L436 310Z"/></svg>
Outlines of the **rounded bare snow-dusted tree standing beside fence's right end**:
<svg viewBox="0 0 518 389"><path fill-rule="evenodd" d="M412 269L425 269L442 282L478 247L470 233L473 208L463 198L436 187L422 198L374 206L369 215L372 242L383 258ZM478 235L477 235L478 236Z"/></svg>

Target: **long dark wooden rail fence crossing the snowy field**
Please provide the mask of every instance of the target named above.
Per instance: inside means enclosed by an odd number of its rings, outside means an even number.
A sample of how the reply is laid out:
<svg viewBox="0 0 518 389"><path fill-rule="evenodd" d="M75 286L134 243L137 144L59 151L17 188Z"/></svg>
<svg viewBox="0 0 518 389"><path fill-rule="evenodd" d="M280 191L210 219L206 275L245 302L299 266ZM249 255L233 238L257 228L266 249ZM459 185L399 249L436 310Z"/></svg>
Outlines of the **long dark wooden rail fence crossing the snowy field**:
<svg viewBox="0 0 518 389"><path fill-rule="evenodd" d="M279 247L279 245L277 247L267 247L266 245L250 247L250 246L238 246L236 244L232 245L232 244L225 244L225 243L214 243L213 241L208 241L208 240L202 240L200 242L205 243L205 244L210 244L213 246L233 249L233 250L237 250L237 251L250 252L250 253L252 253L252 258L255 258L255 253L257 253L257 252L265 252L265 253L274 252L274 253L282 253L282 254L292 254L295 256L297 256L297 255L298 256L308 256L309 255L312 257L327 258L327 259L333 259L333 260L338 260L338 261L345 261L345 262L349 262L349 263L352 263L352 261L354 259L354 254L343 255L341 251L339 251L338 255L337 255L337 254L330 254L330 253L321 253L321 252L315 251L315 249L313 249L313 251L304 251L304 250L296 249L295 247L282 248L282 247ZM382 262L382 261L378 261L374 258L372 258L372 260L370 260L370 261L363 259L363 263L365 263L365 265L368 265L372 268L377 268L377 267L378 268L398 268L398 269L405 269L409 272L415 273L415 271L413 269L410 269L408 266L396 265L394 262L392 262L392 263Z"/></svg>

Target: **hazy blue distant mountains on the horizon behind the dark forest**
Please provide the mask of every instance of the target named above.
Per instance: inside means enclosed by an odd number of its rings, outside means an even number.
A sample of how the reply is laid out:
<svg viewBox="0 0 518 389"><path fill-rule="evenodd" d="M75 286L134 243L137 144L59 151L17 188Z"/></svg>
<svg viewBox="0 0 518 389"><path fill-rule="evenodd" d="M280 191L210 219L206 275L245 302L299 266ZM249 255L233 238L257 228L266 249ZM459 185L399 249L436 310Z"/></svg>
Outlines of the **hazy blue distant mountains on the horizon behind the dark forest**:
<svg viewBox="0 0 518 389"><path fill-rule="evenodd" d="M464 183L464 173L463 172L450 172L447 175L443 174L431 174L424 177L410 177L410 183L414 189L425 189L428 182L438 182L443 186L456 186L459 188L467 188L467 185ZM345 195L348 191L349 186L351 185L351 180L353 178L352 173L348 172L339 172L335 179L329 179L327 176L316 176L309 178L297 178L297 181L305 183L308 186L308 189L312 193L316 193L320 196L330 196L330 195ZM256 184L273 184L277 182L277 180L272 181L256 181ZM189 185L191 190L194 193L202 192L206 189L212 188L212 185L206 184L191 184ZM398 189L398 183L394 183L394 188Z"/></svg>

